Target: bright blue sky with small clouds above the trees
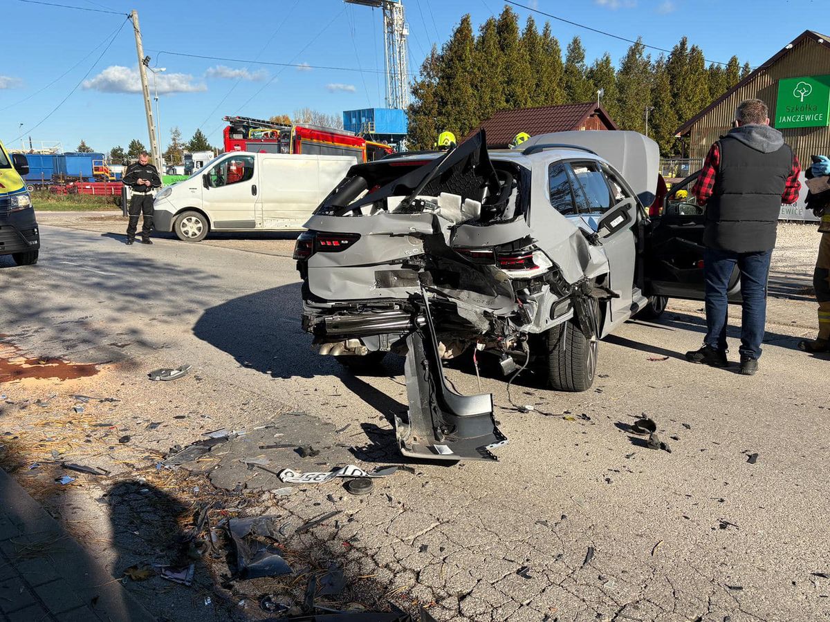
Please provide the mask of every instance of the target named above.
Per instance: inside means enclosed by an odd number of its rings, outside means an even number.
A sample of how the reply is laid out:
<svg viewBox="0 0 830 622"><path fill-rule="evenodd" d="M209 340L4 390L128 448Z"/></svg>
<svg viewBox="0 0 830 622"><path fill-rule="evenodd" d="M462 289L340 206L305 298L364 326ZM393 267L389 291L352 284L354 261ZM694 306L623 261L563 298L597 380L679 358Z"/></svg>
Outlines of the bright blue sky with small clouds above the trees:
<svg viewBox="0 0 830 622"><path fill-rule="evenodd" d="M145 54L152 57L151 65L166 69L158 82L163 148L173 125L185 139L201 127L212 143L221 144L225 114L263 118L305 107L339 114L344 109L383 106L382 17L377 9L345 5L341 0L44 2L125 14L131 8L139 11ZM74 150L82 138L96 151L116 144L126 148L131 138L149 143L144 104L138 93L131 92L137 89L138 59L129 22L115 35L124 17L17 0L0 3L4 23L18 25L2 29L0 138L7 147L19 147L20 140L14 138L20 134L31 135L35 143L59 141L66 150ZM521 3L620 36L642 35L652 46L671 48L686 35L710 60L727 61L737 54L752 66L804 30L817 27L817 5L812 2L759 0L751 11L742 8L744 2L722 0ZM410 66L417 70L432 43L440 46L446 41L465 12L471 13L477 28L504 5L499 0L404 0L404 6ZM514 9L522 22L530 14ZM546 18L534 17L541 27ZM617 62L628 46L562 22L552 21L552 27L563 48L579 35L589 62L605 51ZM110 38L110 48L93 66ZM166 52L364 71L264 66ZM87 71L89 75L66 102L32 129ZM54 85L37 92L61 75Z"/></svg>

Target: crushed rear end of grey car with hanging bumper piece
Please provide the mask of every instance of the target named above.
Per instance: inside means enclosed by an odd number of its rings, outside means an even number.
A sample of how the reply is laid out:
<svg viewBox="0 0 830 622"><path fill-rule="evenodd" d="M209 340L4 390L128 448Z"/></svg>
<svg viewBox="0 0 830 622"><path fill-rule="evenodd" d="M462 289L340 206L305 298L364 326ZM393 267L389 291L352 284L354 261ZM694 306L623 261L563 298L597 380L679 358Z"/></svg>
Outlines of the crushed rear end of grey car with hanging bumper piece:
<svg viewBox="0 0 830 622"><path fill-rule="evenodd" d="M410 456L495 459L506 442L491 396L458 395L443 360L476 348L514 372L534 355L534 336L574 314L583 333L598 336L586 275L602 270L602 253L541 208L546 183L532 183L535 167L546 175L540 158L491 159L485 144L481 132L445 153L354 166L295 248L303 328L321 354L406 356L409 411L396 427Z"/></svg>

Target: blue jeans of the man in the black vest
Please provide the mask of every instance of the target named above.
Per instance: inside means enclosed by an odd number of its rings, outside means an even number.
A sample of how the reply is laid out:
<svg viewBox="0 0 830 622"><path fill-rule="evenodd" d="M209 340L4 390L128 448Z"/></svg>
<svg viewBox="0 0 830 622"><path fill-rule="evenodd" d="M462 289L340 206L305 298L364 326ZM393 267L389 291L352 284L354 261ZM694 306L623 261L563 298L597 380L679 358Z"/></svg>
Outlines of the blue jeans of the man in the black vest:
<svg viewBox="0 0 830 622"><path fill-rule="evenodd" d="M726 349L726 323L729 304L726 289L735 265L740 270L740 290L744 298L740 322L740 356L759 358L767 318L767 277L772 250L758 253L733 253L707 248L703 253L706 279L707 346Z"/></svg>

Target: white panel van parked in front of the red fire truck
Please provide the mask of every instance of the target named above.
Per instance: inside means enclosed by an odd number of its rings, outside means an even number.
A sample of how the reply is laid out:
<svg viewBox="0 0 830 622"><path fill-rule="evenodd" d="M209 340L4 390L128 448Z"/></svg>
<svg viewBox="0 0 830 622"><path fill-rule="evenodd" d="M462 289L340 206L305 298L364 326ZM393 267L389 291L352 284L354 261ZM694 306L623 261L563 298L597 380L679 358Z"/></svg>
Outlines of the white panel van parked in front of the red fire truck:
<svg viewBox="0 0 830 622"><path fill-rule="evenodd" d="M222 153L159 191L154 226L186 242L208 231L301 231L356 163L350 156Z"/></svg>

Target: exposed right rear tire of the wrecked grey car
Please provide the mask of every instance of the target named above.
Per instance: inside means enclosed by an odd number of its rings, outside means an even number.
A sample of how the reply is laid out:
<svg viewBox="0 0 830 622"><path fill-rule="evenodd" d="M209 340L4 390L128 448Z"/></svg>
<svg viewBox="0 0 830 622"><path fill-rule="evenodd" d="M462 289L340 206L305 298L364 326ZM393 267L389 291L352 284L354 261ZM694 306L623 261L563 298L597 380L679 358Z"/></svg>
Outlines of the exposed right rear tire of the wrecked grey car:
<svg viewBox="0 0 830 622"><path fill-rule="evenodd" d="M590 340L576 318L545 333L544 371L555 391L588 391L597 373L599 339Z"/></svg>

